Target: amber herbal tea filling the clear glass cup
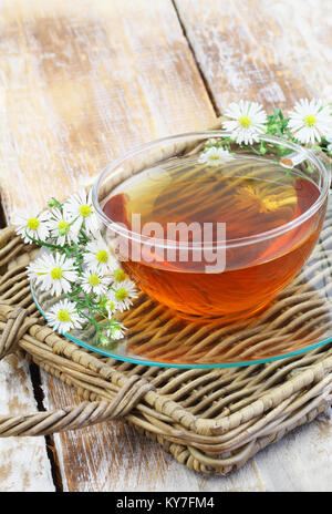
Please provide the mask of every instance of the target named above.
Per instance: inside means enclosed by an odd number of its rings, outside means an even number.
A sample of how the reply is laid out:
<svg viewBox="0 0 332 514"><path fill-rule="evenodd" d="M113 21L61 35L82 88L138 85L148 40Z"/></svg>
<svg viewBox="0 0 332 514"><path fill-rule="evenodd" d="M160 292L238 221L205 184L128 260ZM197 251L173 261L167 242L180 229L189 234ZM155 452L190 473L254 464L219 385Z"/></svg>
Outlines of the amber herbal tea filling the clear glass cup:
<svg viewBox="0 0 332 514"><path fill-rule="evenodd" d="M310 178L268 160L237 155L211 166L197 156L175 157L123 182L104 213L138 233L139 215L145 236L155 238L155 246L132 240L139 257L123 261L143 291L185 317L237 319L267 305L305 263L324 209L274 237L264 233L291 223L318 197ZM203 240L204 226L210 230ZM204 254L197 258L204 245L224 253L224 270L214 269ZM185 258L179 246L187 246Z"/></svg>

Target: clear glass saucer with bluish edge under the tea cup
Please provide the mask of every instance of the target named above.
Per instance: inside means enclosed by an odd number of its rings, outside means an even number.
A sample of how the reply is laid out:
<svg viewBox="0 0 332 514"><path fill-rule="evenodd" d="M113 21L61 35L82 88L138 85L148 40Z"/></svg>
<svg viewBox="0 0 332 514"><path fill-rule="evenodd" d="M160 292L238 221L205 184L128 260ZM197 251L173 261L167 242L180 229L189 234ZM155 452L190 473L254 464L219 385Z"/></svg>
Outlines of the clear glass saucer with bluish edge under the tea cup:
<svg viewBox="0 0 332 514"><path fill-rule="evenodd" d="M201 325L141 295L118 319L126 337L104 348L90 329L64 336L91 351L143 366L230 368L270 362L304 353L332 341L332 205L310 260L278 298L256 317L241 322ZM51 298L31 282L33 300L44 312Z"/></svg>

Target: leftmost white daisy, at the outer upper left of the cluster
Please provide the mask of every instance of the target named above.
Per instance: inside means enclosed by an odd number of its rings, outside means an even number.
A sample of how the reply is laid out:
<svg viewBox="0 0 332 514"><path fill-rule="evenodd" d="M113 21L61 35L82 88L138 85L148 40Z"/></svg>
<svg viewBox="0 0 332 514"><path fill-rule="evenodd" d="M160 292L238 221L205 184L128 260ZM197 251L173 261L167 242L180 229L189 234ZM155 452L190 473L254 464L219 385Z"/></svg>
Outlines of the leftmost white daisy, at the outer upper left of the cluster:
<svg viewBox="0 0 332 514"><path fill-rule="evenodd" d="M17 226L17 234L23 237L24 243L32 243L28 237L45 241L50 236L49 210L41 214L30 213L28 215L18 215L13 225Z"/></svg>

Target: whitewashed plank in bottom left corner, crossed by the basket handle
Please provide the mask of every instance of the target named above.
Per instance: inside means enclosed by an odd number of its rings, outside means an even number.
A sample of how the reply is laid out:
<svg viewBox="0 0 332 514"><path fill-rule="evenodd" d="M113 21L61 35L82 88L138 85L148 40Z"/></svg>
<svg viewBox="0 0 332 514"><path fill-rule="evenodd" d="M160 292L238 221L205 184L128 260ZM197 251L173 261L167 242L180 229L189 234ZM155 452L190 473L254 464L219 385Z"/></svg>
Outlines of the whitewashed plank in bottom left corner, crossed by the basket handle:
<svg viewBox="0 0 332 514"><path fill-rule="evenodd" d="M0 362L0 414L35 410L27 362L7 357ZM0 491L55 491L44 438L0 439Z"/></svg>

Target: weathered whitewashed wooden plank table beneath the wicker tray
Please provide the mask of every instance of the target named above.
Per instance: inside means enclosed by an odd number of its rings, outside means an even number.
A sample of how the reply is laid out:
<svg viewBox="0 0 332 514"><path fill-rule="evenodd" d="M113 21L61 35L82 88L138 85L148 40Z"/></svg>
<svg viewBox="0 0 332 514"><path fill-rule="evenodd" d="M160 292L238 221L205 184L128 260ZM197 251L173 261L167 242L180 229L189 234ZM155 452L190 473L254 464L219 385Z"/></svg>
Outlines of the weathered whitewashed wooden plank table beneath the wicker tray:
<svg viewBox="0 0 332 514"><path fill-rule="evenodd" d="M332 101L325 0L3 0L3 223L64 197L134 145L214 123L230 101L268 111ZM11 357L0 412L77 402ZM188 471L125 423L0 440L0 491L331 491L329 413L227 477Z"/></svg>

